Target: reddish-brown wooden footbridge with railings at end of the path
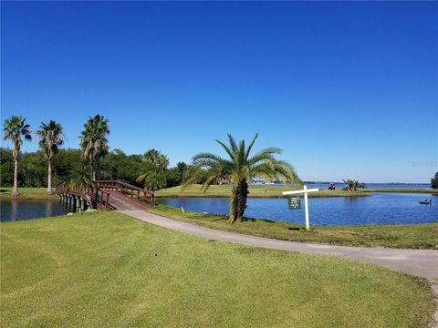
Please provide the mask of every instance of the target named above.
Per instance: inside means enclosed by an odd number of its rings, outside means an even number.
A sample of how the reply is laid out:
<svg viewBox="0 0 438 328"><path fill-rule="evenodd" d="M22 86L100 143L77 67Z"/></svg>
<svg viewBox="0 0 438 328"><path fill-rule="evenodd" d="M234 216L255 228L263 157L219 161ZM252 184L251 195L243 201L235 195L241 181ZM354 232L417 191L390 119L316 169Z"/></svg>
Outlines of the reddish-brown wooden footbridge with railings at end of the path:
<svg viewBox="0 0 438 328"><path fill-rule="evenodd" d="M59 200L73 209L86 210L94 204L98 210L144 210L155 204L152 191L120 180L96 180L95 190L74 190L68 182L57 185Z"/></svg>

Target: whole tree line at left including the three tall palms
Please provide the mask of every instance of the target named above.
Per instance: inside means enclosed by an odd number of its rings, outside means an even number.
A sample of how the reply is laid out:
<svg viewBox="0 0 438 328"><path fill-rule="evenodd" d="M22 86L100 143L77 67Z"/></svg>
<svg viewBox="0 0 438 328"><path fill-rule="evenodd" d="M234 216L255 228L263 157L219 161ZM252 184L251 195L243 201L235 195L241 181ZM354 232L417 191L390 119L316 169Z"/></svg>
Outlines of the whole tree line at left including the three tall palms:
<svg viewBox="0 0 438 328"><path fill-rule="evenodd" d="M183 162L169 168L167 156L156 149L133 155L120 149L110 151L109 120L99 114L84 124L78 137L80 149L61 149L64 132L54 120L42 122L36 130L40 150L32 152L21 151L24 140L32 141L26 118L6 119L3 132L12 149L0 148L0 186L14 187L13 197L18 196L18 187L47 187L47 194L51 194L52 187L62 181L86 188L96 179L120 179L154 191L182 184L188 172L197 174L198 183L207 179L200 169Z"/></svg>

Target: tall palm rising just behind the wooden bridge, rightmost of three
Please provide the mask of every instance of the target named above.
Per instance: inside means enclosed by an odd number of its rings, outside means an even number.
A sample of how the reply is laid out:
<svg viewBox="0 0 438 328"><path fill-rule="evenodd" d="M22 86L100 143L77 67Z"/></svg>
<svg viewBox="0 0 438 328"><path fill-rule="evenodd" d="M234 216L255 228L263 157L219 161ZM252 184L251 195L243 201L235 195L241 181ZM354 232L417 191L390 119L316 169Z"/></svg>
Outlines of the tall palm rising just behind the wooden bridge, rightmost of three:
<svg viewBox="0 0 438 328"><path fill-rule="evenodd" d="M92 179L96 179L99 158L108 153L108 139L110 121L99 114L89 118L81 132L79 145L84 152L84 158L89 162L92 171Z"/></svg>

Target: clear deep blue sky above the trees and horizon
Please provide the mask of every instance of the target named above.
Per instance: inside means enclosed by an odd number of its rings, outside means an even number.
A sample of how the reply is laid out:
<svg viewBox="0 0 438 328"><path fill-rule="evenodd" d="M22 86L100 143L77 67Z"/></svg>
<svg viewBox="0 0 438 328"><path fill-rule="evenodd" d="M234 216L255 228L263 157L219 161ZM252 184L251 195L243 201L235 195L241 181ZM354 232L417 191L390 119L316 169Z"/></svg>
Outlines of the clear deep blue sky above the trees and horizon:
<svg viewBox="0 0 438 328"><path fill-rule="evenodd" d="M259 132L257 147L284 149L302 179L424 182L437 170L436 2L1 9L2 121L54 118L66 147L100 113L111 149L160 149L172 164Z"/></svg>

